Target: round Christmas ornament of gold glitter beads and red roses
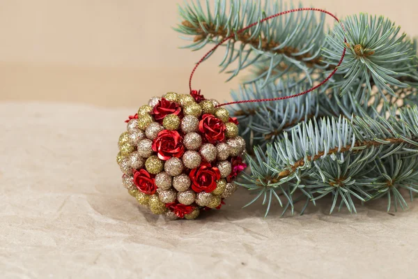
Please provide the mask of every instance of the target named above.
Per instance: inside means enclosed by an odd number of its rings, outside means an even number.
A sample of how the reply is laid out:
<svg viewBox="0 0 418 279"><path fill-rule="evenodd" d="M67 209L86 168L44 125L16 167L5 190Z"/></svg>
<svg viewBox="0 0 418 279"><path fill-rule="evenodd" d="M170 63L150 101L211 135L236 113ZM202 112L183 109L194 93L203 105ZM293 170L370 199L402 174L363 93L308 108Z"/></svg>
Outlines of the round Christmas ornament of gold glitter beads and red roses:
<svg viewBox="0 0 418 279"><path fill-rule="evenodd" d="M166 220L193 220L221 209L235 192L245 140L236 119L217 105L196 92L169 92L128 117L116 161L139 205Z"/></svg>

